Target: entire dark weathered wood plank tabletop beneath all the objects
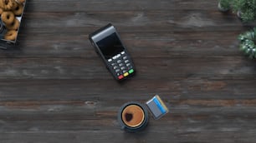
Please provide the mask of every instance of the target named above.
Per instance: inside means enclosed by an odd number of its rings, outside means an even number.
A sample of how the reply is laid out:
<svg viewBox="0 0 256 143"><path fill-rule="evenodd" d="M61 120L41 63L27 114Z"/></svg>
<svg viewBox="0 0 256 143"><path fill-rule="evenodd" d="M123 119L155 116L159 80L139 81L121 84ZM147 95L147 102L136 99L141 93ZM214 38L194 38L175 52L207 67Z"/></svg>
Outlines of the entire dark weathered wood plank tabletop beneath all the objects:
<svg viewBox="0 0 256 143"><path fill-rule="evenodd" d="M0 52L0 142L256 142L256 62L217 0L29 0L18 47ZM117 83L88 34L111 22L137 67ZM127 101L170 113L120 130Z"/></svg>

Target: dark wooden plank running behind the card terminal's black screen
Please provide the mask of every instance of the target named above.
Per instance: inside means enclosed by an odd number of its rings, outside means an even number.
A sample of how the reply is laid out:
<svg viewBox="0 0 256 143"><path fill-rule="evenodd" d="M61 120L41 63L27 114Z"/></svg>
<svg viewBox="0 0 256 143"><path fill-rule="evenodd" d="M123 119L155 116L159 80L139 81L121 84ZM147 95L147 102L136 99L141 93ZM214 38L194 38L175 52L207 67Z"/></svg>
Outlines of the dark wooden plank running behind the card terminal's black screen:
<svg viewBox="0 0 256 143"><path fill-rule="evenodd" d="M95 57L87 35L52 32L45 34L23 33L15 52L2 52L0 57ZM55 33L56 34L56 33ZM28 36L26 36L28 35ZM69 40L67 35L74 39ZM238 41L234 32L174 32L174 33L120 33L132 57L221 57L239 56ZM25 37L26 36L26 37ZM217 37L223 36L222 39ZM135 38L136 40L134 40ZM44 42L41 42L44 40Z"/></svg>

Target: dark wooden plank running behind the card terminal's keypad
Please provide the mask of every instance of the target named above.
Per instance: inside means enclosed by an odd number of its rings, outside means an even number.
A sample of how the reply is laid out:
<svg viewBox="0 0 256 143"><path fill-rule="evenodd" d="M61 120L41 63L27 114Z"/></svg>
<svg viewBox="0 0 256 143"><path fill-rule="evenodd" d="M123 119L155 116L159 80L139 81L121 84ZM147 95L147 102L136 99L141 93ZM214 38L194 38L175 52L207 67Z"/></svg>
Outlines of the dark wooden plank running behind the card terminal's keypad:
<svg viewBox="0 0 256 143"><path fill-rule="evenodd" d="M141 53L142 54L142 53ZM134 58L137 79L173 77L255 79L255 64L246 57ZM0 79L112 80L104 63L91 58L10 58L0 61Z"/></svg>

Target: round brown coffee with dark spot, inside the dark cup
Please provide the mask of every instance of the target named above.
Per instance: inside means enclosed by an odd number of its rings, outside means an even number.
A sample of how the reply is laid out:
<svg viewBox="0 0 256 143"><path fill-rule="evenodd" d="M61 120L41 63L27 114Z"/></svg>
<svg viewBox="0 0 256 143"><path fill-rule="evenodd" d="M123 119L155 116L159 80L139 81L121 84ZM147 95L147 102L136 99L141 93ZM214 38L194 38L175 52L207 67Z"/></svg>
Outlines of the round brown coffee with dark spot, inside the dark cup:
<svg viewBox="0 0 256 143"><path fill-rule="evenodd" d="M126 126L136 127L140 126L144 121L145 114L141 106L130 105L126 106L122 111L122 121Z"/></svg>

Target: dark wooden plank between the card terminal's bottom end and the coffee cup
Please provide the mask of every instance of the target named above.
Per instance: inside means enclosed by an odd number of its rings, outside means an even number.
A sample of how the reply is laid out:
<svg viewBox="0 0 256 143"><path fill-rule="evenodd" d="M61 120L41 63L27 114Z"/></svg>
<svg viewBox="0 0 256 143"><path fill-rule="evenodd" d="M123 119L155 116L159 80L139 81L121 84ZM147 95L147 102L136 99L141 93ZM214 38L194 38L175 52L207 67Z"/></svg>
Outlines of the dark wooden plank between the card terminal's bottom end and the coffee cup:
<svg viewBox="0 0 256 143"><path fill-rule="evenodd" d="M6 104L5 101L17 101L17 103L21 101L21 105L23 101L31 101L32 105L40 105L40 101L43 101L44 104L46 104L46 101L67 101L64 104L69 104L69 100L70 103L73 103L73 101L74 103L75 101L111 101L111 104L116 105L119 104L119 101L121 103L134 100L146 101L151 96L159 94L167 103L176 105L186 99L207 99L209 101L211 99L217 101L218 99L254 99L255 88L251 86L253 83L255 83L255 79L249 78L211 80L207 78L197 79L195 77L173 77L155 80L134 78L123 85L112 79L1 80L0 99L3 101L2 105ZM252 101L251 104L253 103ZM217 103L214 104L217 105Z"/></svg>

